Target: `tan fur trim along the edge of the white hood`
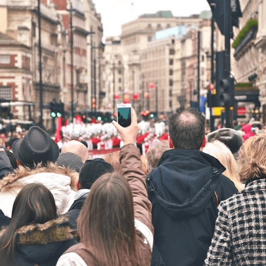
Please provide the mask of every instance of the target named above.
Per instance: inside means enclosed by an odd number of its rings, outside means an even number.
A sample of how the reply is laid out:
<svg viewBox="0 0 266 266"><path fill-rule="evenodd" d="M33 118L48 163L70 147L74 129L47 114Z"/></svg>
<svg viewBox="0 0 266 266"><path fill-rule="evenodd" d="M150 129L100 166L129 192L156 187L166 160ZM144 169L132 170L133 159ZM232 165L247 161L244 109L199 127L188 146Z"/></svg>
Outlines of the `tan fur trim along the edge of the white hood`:
<svg viewBox="0 0 266 266"><path fill-rule="evenodd" d="M9 173L0 181L0 191L6 191L17 180L30 176L36 173L58 173L71 178L71 189L77 191L77 181L79 180L79 173L70 169L69 167L59 166L56 163L48 163L46 167L43 167L40 163L35 168L30 169L25 166L18 166L14 169L13 173Z"/></svg>

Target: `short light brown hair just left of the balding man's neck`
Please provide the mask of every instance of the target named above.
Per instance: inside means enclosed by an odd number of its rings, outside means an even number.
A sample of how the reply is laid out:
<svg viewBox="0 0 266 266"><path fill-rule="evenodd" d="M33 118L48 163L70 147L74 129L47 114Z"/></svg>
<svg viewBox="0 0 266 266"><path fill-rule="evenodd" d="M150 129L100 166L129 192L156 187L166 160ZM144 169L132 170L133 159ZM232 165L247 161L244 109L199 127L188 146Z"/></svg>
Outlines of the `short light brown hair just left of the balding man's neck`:
<svg viewBox="0 0 266 266"><path fill-rule="evenodd" d="M166 150L170 150L168 140L162 140L148 149L146 158L149 172L158 166L159 160Z"/></svg>

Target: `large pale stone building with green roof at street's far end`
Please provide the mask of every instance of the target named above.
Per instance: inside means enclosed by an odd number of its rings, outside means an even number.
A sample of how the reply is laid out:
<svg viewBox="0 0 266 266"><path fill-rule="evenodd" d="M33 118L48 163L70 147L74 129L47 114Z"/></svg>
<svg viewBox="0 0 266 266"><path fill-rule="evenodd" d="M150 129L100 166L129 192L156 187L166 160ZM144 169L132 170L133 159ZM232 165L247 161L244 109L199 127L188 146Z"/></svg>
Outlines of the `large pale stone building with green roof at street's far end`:
<svg viewBox="0 0 266 266"><path fill-rule="evenodd" d="M158 11L122 25L121 43L117 49L123 59L122 90L130 97L136 111L149 107L153 112L170 112L176 108L179 93L174 84L176 36L184 35L186 28L198 27L201 21L200 15L174 17L171 11ZM185 33L179 32L181 28ZM104 56L108 56L108 49ZM150 82L156 83L155 89L149 89ZM145 98L147 93L149 99Z"/></svg>

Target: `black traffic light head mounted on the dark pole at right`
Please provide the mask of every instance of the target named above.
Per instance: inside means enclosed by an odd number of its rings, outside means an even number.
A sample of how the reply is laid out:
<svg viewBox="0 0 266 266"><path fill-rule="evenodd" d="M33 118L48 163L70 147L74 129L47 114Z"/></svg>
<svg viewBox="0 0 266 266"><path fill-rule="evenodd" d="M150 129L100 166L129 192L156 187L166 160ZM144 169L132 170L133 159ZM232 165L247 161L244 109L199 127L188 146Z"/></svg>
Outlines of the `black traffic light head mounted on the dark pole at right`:
<svg viewBox="0 0 266 266"><path fill-rule="evenodd" d="M222 79L218 84L218 102L220 106L234 106L234 79Z"/></svg>

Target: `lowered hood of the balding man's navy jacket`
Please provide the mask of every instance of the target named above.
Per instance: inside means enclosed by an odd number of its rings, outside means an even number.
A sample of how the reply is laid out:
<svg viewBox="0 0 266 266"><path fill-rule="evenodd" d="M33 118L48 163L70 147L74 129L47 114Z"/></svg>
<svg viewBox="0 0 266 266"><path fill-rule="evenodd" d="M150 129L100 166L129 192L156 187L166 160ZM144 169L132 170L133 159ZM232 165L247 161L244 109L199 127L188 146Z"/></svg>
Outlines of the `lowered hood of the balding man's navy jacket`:
<svg viewBox="0 0 266 266"><path fill-rule="evenodd" d="M199 150L163 153L158 168L147 176L147 188L172 217L200 213L214 195L225 167Z"/></svg>

